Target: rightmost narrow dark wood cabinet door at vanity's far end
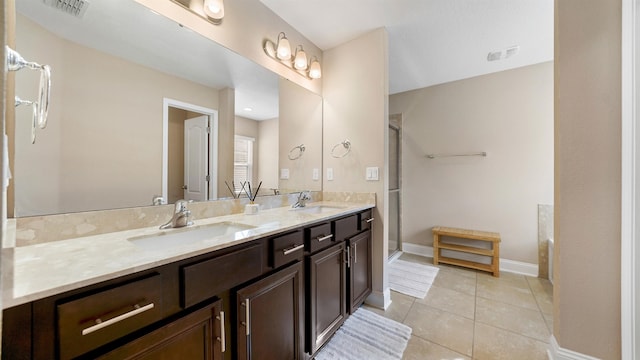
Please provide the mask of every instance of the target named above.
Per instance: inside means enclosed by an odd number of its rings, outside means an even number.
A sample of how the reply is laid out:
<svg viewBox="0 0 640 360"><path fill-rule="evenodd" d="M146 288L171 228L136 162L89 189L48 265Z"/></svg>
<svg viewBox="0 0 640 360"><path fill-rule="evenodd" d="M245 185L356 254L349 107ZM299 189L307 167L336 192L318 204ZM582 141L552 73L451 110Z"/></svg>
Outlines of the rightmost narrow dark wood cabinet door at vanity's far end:
<svg viewBox="0 0 640 360"><path fill-rule="evenodd" d="M371 294L371 230L349 239L349 306L350 313Z"/></svg>

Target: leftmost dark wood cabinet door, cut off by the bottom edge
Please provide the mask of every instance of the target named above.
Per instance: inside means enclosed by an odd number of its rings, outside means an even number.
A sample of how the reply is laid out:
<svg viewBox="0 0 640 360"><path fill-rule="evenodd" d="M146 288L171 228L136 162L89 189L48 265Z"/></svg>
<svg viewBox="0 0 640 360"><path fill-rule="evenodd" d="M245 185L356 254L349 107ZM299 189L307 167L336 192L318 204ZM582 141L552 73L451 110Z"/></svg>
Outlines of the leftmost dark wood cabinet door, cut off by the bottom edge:
<svg viewBox="0 0 640 360"><path fill-rule="evenodd" d="M97 358L222 359L226 350L223 321L222 301L218 300Z"/></svg>

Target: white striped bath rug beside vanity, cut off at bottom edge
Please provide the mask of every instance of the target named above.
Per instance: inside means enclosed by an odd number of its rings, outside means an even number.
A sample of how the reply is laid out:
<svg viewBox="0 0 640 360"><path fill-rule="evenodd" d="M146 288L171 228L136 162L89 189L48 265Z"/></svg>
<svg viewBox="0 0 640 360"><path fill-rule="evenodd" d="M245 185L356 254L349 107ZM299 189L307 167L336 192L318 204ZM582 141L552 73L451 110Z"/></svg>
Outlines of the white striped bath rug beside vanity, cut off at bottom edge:
<svg viewBox="0 0 640 360"><path fill-rule="evenodd" d="M411 328L359 308L315 356L316 360L400 360Z"/></svg>

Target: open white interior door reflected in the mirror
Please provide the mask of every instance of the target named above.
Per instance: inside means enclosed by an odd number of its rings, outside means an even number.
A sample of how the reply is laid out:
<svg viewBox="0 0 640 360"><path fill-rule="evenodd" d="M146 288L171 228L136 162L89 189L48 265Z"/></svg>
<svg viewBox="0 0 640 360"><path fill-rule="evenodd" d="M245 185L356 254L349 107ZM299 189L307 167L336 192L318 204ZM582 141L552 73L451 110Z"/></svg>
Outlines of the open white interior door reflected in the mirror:
<svg viewBox="0 0 640 360"><path fill-rule="evenodd" d="M209 163L209 117L206 115L184 122L184 198L207 200Z"/></svg>

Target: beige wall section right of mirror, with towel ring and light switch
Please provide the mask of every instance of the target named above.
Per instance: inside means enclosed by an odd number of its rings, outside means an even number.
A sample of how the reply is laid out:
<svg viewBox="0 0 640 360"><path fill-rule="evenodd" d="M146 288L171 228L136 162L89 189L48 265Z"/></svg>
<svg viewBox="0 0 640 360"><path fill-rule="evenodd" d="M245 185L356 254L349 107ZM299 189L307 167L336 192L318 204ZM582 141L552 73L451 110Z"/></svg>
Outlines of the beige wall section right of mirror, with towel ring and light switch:
<svg viewBox="0 0 640 360"><path fill-rule="evenodd" d="M363 61L366 59L366 61ZM326 192L376 194L373 223L373 294L368 300L383 306L387 289L384 268L387 259L387 136L388 75L387 32L378 29L328 50L324 54L323 167L333 168L334 180L323 177ZM333 158L331 148L345 139L351 152ZM368 166L380 169L379 181L366 181Z"/></svg>

